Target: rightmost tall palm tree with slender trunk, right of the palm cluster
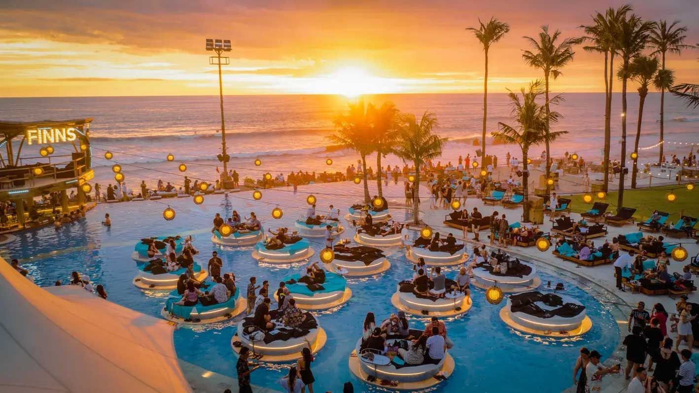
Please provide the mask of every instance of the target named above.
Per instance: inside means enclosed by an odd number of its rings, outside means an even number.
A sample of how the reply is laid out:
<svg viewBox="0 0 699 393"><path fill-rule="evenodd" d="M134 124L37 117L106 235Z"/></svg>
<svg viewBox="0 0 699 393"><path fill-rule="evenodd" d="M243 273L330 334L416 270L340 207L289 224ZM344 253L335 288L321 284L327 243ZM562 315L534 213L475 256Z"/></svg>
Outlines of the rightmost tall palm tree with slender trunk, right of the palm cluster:
<svg viewBox="0 0 699 393"><path fill-rule="evenodd" d="M684 38L686 36L684 33L687 31L686 26L677 26L679 20L675 20L668 25L667 20L661 20L653 24L653 29L650 31L650 36L648 37L648 45L651 48L655 48L653 55L661 55L662 65L661 69L665 69L665 54L667 52L676 53L679 55L682 53L683 49L692 48L691 45L684 45ZM658 162L663 161L663 142L665 141L664 127L665 127L665 89L667 87L661 87L660 90L660 152L658 152Z"/></svg>

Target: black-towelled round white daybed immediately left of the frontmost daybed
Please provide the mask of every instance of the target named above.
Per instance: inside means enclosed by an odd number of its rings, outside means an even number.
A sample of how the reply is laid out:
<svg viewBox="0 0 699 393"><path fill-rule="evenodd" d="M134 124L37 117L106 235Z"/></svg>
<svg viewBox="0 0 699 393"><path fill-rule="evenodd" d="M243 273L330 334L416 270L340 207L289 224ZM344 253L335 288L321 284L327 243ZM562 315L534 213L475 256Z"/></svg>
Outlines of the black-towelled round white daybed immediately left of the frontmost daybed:
<svg viewBox="0 0 699 393"><path fill-rule="evenodd" d="M277 310L270 310L272 320L277 317ZM264 332L254 327L253 317L245 317L238 323L237 334L231 340L233 352L239 353L243 345L252 353L263 355L262 362L295 362L301 357L301 350L310 342L311 352L317 353L327 341L325 331L311 313L305 313L306 319L298 328L287 328L277 322L274 330ZM236 344L240 343L240 344Z"/></svg>

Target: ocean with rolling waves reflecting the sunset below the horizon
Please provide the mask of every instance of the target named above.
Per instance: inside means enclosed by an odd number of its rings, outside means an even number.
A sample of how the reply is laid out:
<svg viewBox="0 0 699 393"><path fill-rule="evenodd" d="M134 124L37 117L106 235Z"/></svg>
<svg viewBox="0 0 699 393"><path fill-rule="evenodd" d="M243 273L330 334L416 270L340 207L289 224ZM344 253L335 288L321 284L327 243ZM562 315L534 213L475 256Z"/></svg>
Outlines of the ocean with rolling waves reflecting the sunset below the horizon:
<svg viewBox="0 0 699 393"><path fill-rule="evenodd" d="M603 147L604 95L602 93L568 93L556 110L563 118L554 129L569 131L552 145L553 155L578 152L587 160L597 159ZM475 155L474 138L480 138L482 127L481 94L389 94L364 97L367 102L392 101L398 109L421 115L433 111L440 122L439 134L449 138L442 162L456 162L459 155ZM196 97L79 97L79 98L12 98L0 99L2 120L64 120L94 117L90 127L93 155L98 169L97 181L107 183L113 174L105 170L115 162L124 167L127 181L154 183L157 178L178 180L177 164L188 165L187 175L194 178L215 178L220 166L221 136L219 98ZM327 149L327 136L333 133L333 118L347 108L350 99L332 95L226 96L226 143L231 162L229 167L243 176L259 178L262 173L289 171L344 171L356 164L353 152ZM356 99L352 99L356 100ZM660 94L651 93L645 103L640 146L658 142ZM621 94L614 95L612 108L612 156L618 155L621 135ZM628 152L633 149L637 124L638 95L628 94ZM488 132L498 122L511 123L506 94L489 95ZM670 142L699 142L699 112L687 109L671 94L665 95L665 138ZM15 141L15 145L20 143ZM55 145L58 154L66 154L73 146ZM689 154L689 146L666 145L666 152ZM103 159L106 150L115 154L111 161ZM538 155L543 147L531 148ZM16 151L16 150L15 150ZM168 152L175 162L164 162ZM506 152L514 157L521 153L512 145L490 145L489 154L504 162ZM640 151L640 162L656 159L658 149ZM23 157L38 156L36 145L24 146ZM256 168L255 157L263 160ZM333 165L325 164L326 157ZM34 159L35 161L38 159ZM29 162L32 159L28 159ZM396 157L384 163L402 164ZM369 165L375 167L375 157ZM384 164L385 165L385 164ZM171 174L175 173L175 174ZM180 178L181 180L181 178Z"/></svg>

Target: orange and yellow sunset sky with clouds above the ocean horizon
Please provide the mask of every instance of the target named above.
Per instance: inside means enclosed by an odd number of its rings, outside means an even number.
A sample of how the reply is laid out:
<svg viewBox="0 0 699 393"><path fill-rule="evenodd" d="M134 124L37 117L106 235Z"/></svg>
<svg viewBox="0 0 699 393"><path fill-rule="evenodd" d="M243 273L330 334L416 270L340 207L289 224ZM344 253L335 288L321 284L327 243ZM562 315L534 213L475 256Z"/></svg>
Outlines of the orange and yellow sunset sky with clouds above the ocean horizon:
<svg viewBox="0 0 699 393"><path fill-rule="evenodd" d="M682 20L699 43L697 0L628 1L649 19ZM511 31L491 48L489 86L540 72L521 61L540 25L579 36L622 1L0 1L0 97L217 94L205 38L229 38L226 94L482 92L483 52L466 27L491 15ZM699 50L670 55L699 82ZM553 85L604 88L603 57L577 48ZM617 84L619 87L619 84Z"/></svg>

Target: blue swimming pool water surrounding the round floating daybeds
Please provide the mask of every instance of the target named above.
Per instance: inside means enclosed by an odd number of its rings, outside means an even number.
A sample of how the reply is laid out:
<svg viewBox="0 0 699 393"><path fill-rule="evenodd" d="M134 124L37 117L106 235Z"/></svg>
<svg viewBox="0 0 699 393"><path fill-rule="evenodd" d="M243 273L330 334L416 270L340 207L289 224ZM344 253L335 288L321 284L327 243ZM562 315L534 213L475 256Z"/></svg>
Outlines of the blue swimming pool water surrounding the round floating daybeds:
<svg viewBox="0 0 699 393"><path fill-rule="evenodd" d="M353 195L344 197L324 196L323 193L338 194L340 187L347 185L315 185L312 191L320 206L333 203L346 212L347 206L356 201ZM359 186L358 186L359 187ZM391 190L391 188L393 188ZM359 188L354 194L360 194ZM390 187L389 195L401 194ZM345 194L347 194L345 192ZM160 315L167 292L144 292L131 283L136 276L136 264L131 259L134 244L140 238L164 235L193 234L194 245L201 251L197 262L206 266L211 251L219 250L224 260L224 271L234 271L241 288L250 276L269 280L271 289L301 264L294 266L265 266L252 259L252 248L221 248L210 241L210 228L215 213L230 214L236 209L243 215L255 211L266 227L293 226L294 220L305 210L308 192L293 194L281 190L267 190L262 201L253 201L250 193L215 195L206 197L201 206L191 199L164 201L177 211L175 220L166 222L162 210L166 204L154 201L103 204L91 210L87 220L82 220L59 230L53 228L17 236L17 241L6 245L3 257L21 259L41 286L53 285L56 280L67 281L71 271L87 274L94 283L106 287L110 301L133 308L149 315ZM284 209L282 220L273 220L270 212L277 201ZM398 198L389 198L389 202ZM295 208L294 208L295 207ZM110 213L113 226L103 227L101 217ZM396 212L394 212L394 215ZM403 215L404 213L400 213ZM400 218L400 217L399 217ZM348 229L343 238L354 234ZM316 250L322 245L312 243ZM393 251L391 251L393 250ZM343 383L354 383L355 391L371 391L377 388L363 384L350 373L347 366L349 353L361 335L361 322L368 311L377 315L377 320L393 312L391 295L398 281L411 275L411 264L398 248L389 249L391 269L374 278L349 279L352 299L336 310L319 313L319 322L328 334L328 343L317 355L313 371L317 383L316 392L341 392ZM316 257L317 260L317 257ZM504 302L492 306L484 299L482 290L473 290L473 308L468 313L448 320L449 336L454 341L452 356L456 362L454 374L438 385L438 392L560 392L571 385L571 367L580 347L598 350L608 357L619 344L619 328L610 308L594 300L593 288L577 276L554 270L544 264L537 265L542 282L563 282L566 294L577 297L587 308L593 320L589 333L577 338L549 339L527 336L507 327L498 316ZM454 276L456 269L448 269L447 276ZM600 296L600 295L598 295ZM602 295L603 296L603 295ZM410 317L414 327L424 327L424 319ZM222 373L235 378L236 355L231 350L231 337L235 333L235 322L181 327L175 331L175 349L186 362L203 369ZM267 366L252 374L254 385L278 390L277 380L283 376L279 365ZM235 387L233 387L235 391Z"/></svg>

